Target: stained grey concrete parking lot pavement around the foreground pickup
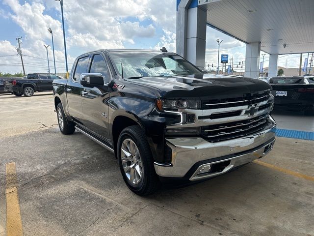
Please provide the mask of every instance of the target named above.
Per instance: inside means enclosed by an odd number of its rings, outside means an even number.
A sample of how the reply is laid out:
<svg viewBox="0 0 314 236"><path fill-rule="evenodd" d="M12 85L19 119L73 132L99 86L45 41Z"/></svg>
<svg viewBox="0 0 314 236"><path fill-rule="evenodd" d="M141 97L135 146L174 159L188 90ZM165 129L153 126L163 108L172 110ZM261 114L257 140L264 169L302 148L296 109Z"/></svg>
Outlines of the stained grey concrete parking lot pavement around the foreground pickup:
<svg viewBox="0 0 314 236"><path fill-rule="evenodd" d="M25 236L314 236L314 141L277 137L234 172L139 197L110 152L60 133L53 109L52 92L0 95L0 236L20 224ZM314 131L313 117L273 115L280 128Z"/></svg>

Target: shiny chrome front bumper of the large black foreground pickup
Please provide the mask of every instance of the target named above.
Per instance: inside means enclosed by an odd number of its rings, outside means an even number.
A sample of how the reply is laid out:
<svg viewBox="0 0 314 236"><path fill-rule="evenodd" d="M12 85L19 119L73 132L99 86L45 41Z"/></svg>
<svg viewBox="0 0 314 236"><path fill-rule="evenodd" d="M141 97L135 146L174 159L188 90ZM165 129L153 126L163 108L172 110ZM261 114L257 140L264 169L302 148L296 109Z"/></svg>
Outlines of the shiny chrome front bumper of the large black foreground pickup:
<svg viewBox="0 0 314 236"><path fill-rule="evenodd" d="M263 130L237 139L217 143L209 143L200 137L166 139L172 150L172 161L170 165L155 162L156 173L161 177L188 177L191 181L224 174L267 154L275 142L275 129L276 123L270 118ZM206 163L229 160L221 172L197 175Z"/></svg>

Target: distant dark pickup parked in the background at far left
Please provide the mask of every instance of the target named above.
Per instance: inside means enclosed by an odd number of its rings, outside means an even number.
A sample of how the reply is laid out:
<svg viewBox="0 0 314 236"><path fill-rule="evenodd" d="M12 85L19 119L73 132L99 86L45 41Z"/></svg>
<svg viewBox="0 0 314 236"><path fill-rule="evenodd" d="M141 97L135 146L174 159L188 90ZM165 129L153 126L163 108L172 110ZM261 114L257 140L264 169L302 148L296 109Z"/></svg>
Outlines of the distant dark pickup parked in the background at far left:
<svg viewBox="0 0 314 236"><path fill-rule="evenodd" d="M27 74L27 78L13 78L4 82L4 89L13 93L15 96L30 97L36 91L52 90L52 81L54 79L63 79L60 76L51 73Z"/></svg>

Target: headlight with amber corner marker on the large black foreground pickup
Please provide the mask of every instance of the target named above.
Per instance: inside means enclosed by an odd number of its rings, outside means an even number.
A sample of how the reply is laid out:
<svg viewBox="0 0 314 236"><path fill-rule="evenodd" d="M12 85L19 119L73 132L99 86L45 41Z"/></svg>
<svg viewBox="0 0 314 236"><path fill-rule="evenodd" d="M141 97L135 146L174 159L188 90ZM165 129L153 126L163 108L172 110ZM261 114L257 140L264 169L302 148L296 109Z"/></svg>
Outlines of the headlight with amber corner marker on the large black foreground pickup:
<svg viewBox="0 0 314 236"><path fill-rule="evenodd" d="M160 111L164 109L199 109L201 107L200 104L200 101L196 100L156 100L156 106Z"/></svg>

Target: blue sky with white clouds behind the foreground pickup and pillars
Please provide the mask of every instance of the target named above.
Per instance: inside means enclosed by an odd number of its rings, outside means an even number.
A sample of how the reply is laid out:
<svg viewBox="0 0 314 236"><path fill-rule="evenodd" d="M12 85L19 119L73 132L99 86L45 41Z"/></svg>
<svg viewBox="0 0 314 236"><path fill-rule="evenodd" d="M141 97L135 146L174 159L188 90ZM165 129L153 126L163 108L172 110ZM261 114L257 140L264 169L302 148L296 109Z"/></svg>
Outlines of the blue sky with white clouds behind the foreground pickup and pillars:
<svg viewBox="0 0 314 236"><path fill-rule="evenodd" d="M165 7L166 6L166 7ZM99 48L160 48L175 51L175 0L64 0L65 32L69 68L82 53ZM18 36L23 36L22 50L26 73L48 70L44 44L54 35L56 70L65 71L60 4L54 0L2 0L0 2L0 71L20 72L16 54ZM206 61L217 61L216 39L224 40L221 53L234 57L235 64L245 59L245 44L207 27ZM261 53L262 54L262 53ZM282 66L297 63L294 55L280 59ZM52 48L49 48L49 58ZM265 56L265 66L268 55ZM287 60L288 59L288 63ZM210 68L209 68L210 69ZM51 63L51 70L52 63Z"/></svg>

